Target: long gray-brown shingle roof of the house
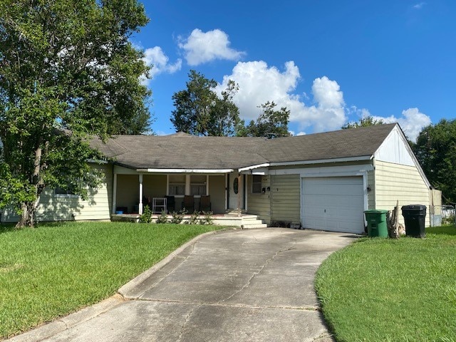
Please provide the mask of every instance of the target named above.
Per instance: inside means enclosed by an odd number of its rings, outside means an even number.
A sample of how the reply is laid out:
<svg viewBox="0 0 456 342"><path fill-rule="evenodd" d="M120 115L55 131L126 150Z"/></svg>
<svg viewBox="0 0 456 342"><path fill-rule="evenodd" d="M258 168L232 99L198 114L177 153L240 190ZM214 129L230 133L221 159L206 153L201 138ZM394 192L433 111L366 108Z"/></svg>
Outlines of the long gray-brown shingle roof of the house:
<svg viewBox="0 0 456 342"><path fill-rule="evenodd" d="M118 135L93 140L107 157L135 169L237 169L266 162L371 156L396 124L336 130L289 138Z"/></svg>

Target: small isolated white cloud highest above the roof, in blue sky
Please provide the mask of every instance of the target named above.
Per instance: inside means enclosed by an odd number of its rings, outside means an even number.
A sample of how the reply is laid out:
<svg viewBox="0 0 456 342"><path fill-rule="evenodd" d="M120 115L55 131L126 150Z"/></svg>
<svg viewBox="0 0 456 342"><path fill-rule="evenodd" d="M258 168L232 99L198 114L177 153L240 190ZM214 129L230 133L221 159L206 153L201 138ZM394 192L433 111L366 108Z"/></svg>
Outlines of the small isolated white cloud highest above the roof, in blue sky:
<svg viewBox="0 0 456 342"><path fill-rule="evenodd" d="M239 61L244 55L242 51L229 48L227 33L219 29L203 32L195 28L186 39L179 37L179 47L185 51L185 59L190 66L214 61L215 59L227 59Z"/></svg>

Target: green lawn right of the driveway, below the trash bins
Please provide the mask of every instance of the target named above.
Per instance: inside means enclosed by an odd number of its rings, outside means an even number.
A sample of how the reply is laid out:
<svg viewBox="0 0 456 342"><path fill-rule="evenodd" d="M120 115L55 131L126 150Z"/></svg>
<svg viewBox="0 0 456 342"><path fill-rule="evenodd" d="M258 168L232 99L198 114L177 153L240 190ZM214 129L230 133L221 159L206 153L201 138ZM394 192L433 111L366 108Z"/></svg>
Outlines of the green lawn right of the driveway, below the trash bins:
<svg viewBox="0 0 456 342"><path fill-rule="evenodd" d="M336 341L456 341L456 227L361 238L323 262L316 289Z"/></svg>

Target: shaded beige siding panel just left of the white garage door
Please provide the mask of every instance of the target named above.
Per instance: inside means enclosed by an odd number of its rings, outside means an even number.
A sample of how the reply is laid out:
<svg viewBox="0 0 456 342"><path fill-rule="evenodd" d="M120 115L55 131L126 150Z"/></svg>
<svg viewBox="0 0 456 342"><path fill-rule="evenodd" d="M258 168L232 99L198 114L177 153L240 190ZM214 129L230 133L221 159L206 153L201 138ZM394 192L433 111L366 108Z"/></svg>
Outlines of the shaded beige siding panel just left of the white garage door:
<svg viewBox="0 0 456 342"><path fill-rule="evenodd" d="M300 222L299 175L271 176L271 222Z"/></svg>

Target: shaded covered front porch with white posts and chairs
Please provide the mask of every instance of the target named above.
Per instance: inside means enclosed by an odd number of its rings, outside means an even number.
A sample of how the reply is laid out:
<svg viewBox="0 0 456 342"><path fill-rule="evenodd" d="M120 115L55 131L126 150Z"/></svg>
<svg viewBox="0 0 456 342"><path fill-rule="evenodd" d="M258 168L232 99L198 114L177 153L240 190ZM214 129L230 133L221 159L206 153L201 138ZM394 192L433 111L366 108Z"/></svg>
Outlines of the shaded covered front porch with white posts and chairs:
<svg viewBox="0 0 456 342"><path fill-rule="evenodd" d="M224 215L247 212L248 177L237 170L133 170L114 165L112 216L185 209ZM204 202L209 202L209 205Z"/></svg>

